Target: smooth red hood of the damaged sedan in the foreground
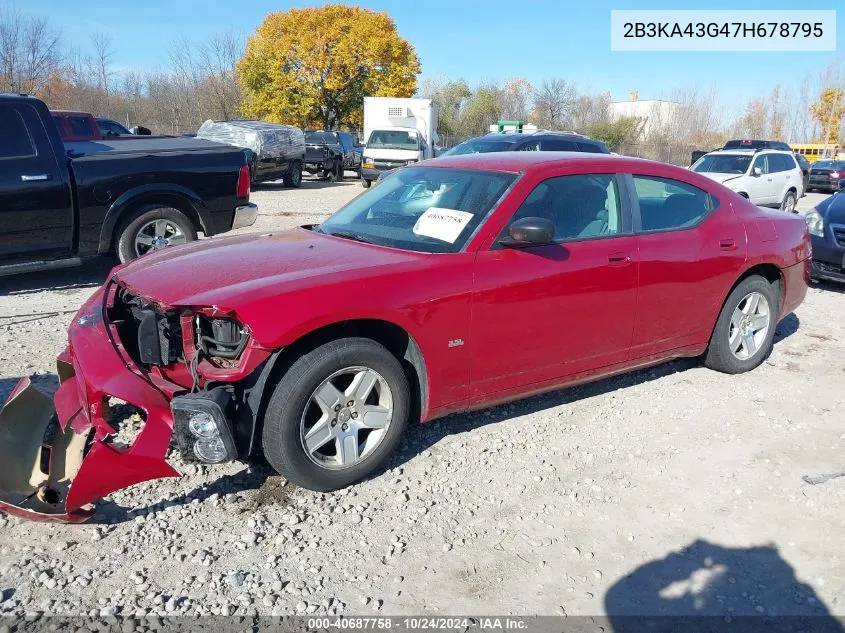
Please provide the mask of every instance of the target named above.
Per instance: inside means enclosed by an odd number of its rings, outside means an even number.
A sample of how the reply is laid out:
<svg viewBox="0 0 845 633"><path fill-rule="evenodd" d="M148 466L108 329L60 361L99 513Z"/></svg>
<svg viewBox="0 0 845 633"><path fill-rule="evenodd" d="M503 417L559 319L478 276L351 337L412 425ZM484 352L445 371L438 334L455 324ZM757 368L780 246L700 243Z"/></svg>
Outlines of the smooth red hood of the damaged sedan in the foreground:
<svg viewBox="0 0 845 633"><path fill-rule="evenodd" d="M426 257L296 228L171 246L117 269L116 277L161 305L237 310L285 290L357 280Z"/></svg>

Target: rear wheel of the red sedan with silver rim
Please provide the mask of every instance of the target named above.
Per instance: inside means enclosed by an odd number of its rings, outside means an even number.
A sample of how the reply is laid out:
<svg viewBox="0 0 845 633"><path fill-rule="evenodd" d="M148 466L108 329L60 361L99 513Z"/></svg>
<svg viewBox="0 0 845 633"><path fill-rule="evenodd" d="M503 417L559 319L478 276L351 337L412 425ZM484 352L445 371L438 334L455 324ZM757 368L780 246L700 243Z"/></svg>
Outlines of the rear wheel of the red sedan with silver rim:
<svg viewBox="0 0 845 633"><path fill-rule="evenodd" d="M757 367L771 353L777 327L779 297L767 279L743 279L722 306L704 364L726 374Z"/></svg>

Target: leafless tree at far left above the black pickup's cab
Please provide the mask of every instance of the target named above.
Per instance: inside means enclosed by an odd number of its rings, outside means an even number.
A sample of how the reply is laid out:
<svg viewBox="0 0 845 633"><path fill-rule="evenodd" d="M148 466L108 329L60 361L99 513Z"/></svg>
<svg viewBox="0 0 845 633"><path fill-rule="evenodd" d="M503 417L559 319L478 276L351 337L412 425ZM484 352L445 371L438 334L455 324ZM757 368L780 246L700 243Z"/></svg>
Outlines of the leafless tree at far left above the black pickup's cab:
<svg viewBox="0 0 845 633"><path fill-rule="evenodd" d="M60 33L46 18L0 6L0 91L35 93L59 68Z"/></svg>

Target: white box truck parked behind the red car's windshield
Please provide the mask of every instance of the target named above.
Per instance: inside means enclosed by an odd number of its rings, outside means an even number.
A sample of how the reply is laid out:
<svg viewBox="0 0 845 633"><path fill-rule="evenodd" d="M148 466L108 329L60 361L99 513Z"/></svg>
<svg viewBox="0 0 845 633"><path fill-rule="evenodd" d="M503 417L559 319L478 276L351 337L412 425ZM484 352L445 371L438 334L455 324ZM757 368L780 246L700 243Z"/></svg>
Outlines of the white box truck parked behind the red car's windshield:
<svg viewBox="0 0 845 633"><path fill-rule="evenodd" d="M437 104L431 99L364 97L364 159L361 184L385 171L434 158Z"/></svg>

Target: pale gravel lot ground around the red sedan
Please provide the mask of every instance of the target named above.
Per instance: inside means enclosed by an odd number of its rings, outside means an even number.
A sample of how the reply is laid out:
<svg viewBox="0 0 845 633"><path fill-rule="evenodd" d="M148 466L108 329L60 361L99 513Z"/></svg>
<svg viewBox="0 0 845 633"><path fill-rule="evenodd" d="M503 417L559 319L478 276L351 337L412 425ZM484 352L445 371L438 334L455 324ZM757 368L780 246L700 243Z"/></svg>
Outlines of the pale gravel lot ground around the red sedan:
<svg viewBox="0 0 845 633"><path fill-rule="evenodd" d="M264 187L250 230L360 192ZM0 398L55 384L105 270L0 280ZM812 288L750 374L681 361L452 416L336 494L188 466L87 525L0 518L0 613L845 614L845 478L802 481L845 468L843 290Z"/></svg>

